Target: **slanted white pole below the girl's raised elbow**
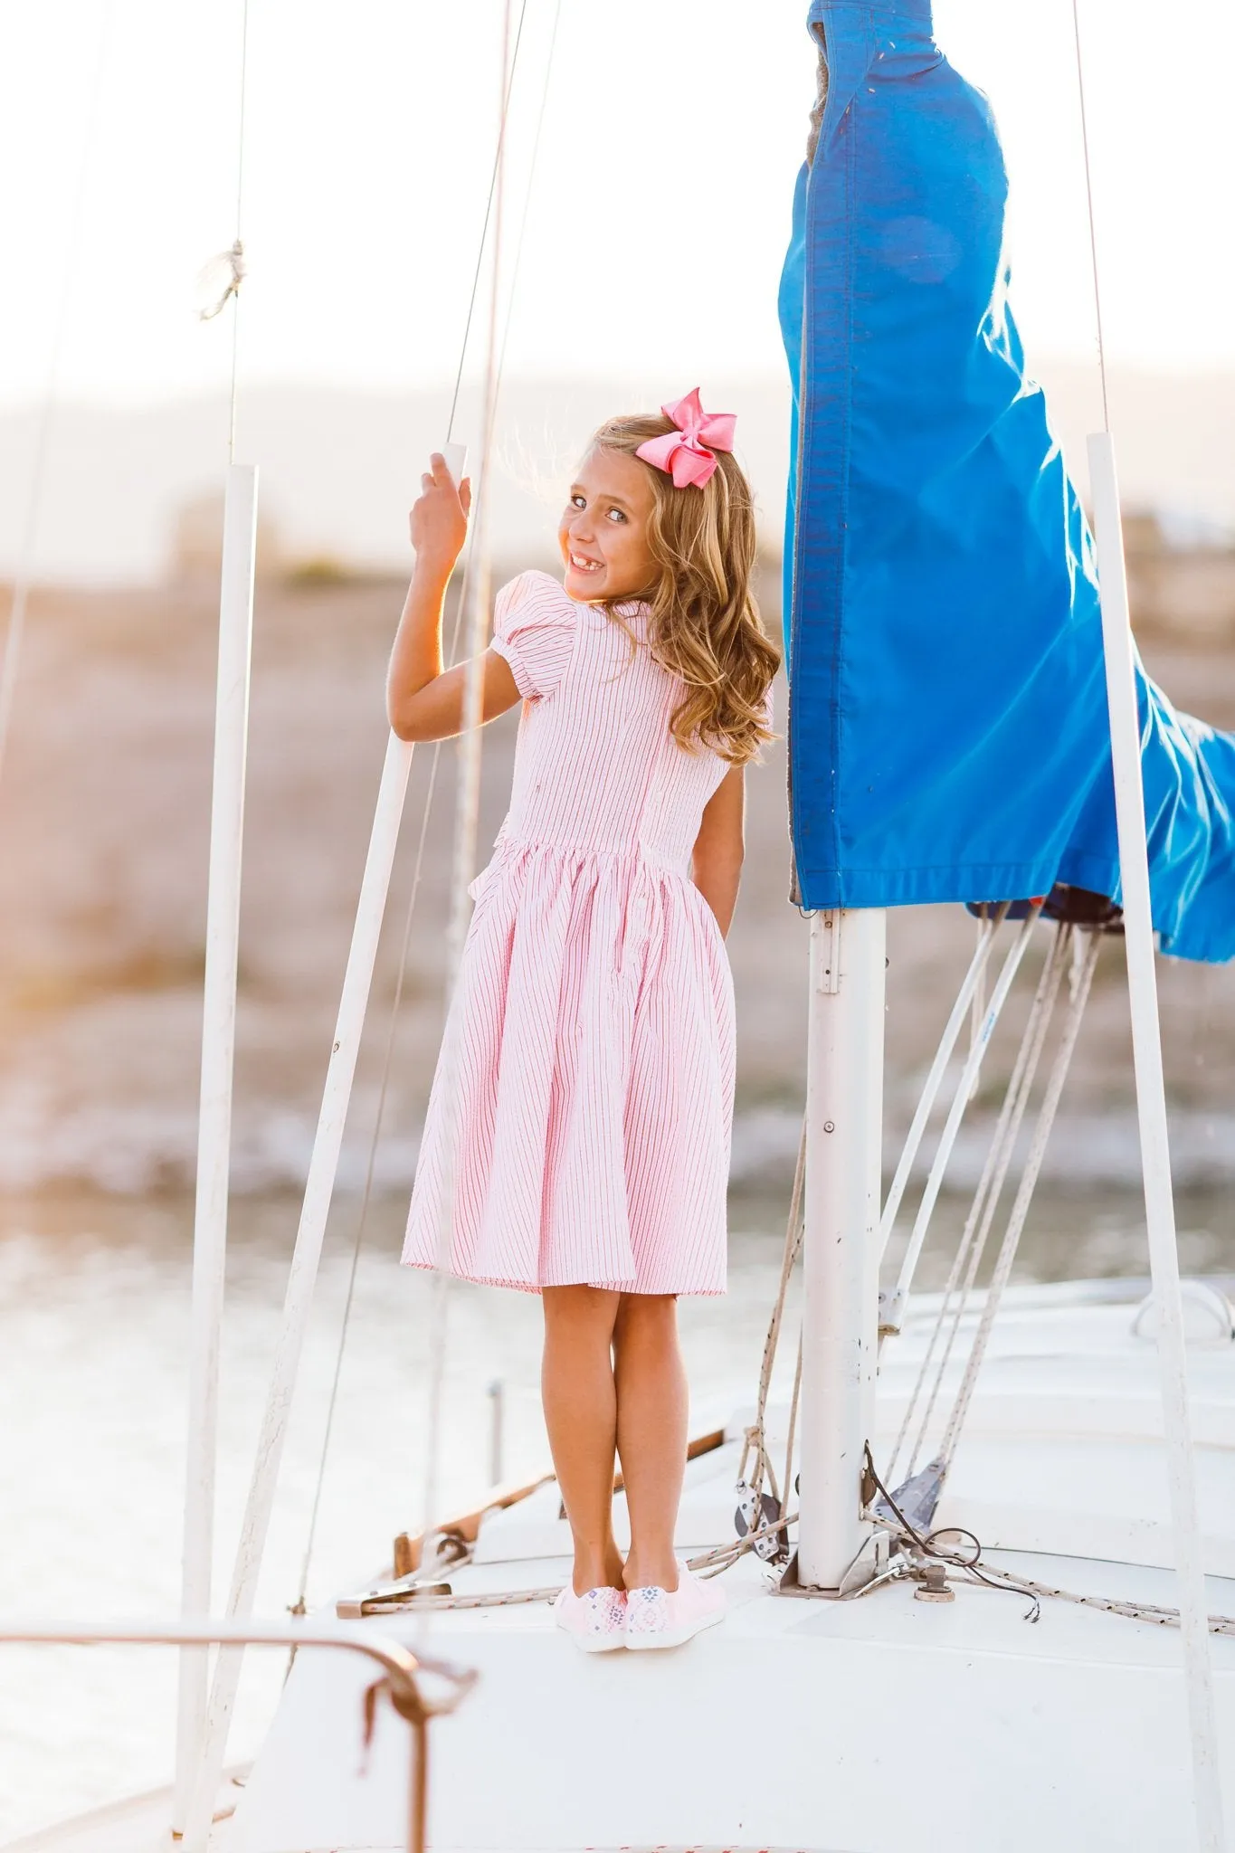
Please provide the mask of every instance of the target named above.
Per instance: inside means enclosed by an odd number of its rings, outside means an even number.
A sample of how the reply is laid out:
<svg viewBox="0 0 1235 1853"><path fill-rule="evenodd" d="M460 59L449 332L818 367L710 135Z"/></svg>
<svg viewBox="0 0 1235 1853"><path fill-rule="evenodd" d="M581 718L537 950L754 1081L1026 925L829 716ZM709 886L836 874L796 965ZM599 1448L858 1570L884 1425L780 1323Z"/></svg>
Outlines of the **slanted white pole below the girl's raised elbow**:
<svg viewBox="0 0 1235 1853"><path fill-rule="evenodd" d="M394 849L398 845L398 828L404 815L404 797L407 791L409 771L411 747L404 745L404 741L391 734L385 765L381 769L381 786L378 791L372 836L368 839L368 858L365 862L365 878L361 882L356 926L352 930L352 951L348 952L348 969L343 980L343 997L339 999L335 1041L330 1054L330 1067L326 1069L322 1110L317 1121L313 1156L309 1160L300 1229L296 1230L296 1247L293 1251L291 1273L287 1277L287 1295L283 1299L283 1319L274 1353L270 1392L261 1423L261 1438L257 1442L257 1458L248 1490L241 1542L235 1555L231 1597L228 1603L228 1616L231 1620L246 1620L254 1612L261 1557L265 1551L267 1532L270 1529L270 1512L274 1508L283 1442L287 1438L287 1418L291 1414L293 1393L296 1388L300 1351L304 1347L309 1310L313 1305L313 1288L317 1284L317 1269L322 1256L322 1236L326 1234L326 1217L330 1214L330 1199L333 1195L335 1173L339 1169L343 1128L346 1125L348 1103L352 1099L352 1078L356 1075L356 1058L361 1045L361 1030L365 1027L365 1010L368 1004L368 990L378 956L378 939L381 936L381 919L385 914L387 889L391 886L391 867L394 863ZM222 1762L228 1747L228 1725L231 1721L239 1677L239 1649L220 1653L211 1686L202 1758L193 1784L193 1803L189 1807L189 1820L185 1825L187 1853L204 1853L206 1847L211 1809L218 1792L218 1779L222 1775Z"/></svg>

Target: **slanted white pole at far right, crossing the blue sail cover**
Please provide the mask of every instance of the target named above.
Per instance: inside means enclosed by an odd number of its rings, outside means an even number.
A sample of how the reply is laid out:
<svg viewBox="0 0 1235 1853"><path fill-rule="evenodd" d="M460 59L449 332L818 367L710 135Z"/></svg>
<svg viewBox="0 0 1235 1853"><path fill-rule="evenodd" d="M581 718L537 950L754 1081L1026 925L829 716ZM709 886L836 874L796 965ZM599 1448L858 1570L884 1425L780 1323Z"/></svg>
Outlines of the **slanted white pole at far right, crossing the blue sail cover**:
<svg viewBox="0 0 1235 1853"><path fill-rule="evenodd" d="M1222 1781L1218 1773L1213 1666L1209 1660L1205 1569L1196 1510L1183 1301L1179 1295L1176 1208L1170 1190L1170 1143L1166 1138L1166 1088L1157 1019L1157 975L1154 969L1150 862L1144 836L1144 789L1141 784L1141 715L1137 712L1115 445L1109 432L1094 432L1089 439L1089 480L1094 498L1094 536L1098 541L1102 584L1102 645L1105 652L1111 760L1115 767L1115 817L1124 888L1124 945L1128 949L1141 1173L1144 1180L1144 1217L1150 1234L1150 1273L1157 1303L1157 1366L1166 1436L1166 1475L1170 1482L1176 1582L1179 1590L1183 1673L1192 1727L1196 1840L1202 1853L1224 1853L1226 1834L1222 1829Z"/></svg>

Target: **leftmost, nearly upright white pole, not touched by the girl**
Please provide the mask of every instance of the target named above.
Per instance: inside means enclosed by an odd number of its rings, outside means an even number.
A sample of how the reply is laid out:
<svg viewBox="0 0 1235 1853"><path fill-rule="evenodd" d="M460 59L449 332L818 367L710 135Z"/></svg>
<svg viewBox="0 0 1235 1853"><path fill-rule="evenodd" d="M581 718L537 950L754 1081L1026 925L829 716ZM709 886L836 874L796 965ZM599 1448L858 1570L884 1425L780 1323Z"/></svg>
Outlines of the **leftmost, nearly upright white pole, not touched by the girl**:
<svg viewBox="0 0 1235 1853"><path fill-rule="evenodd" d="M254 641L254 550L257 469L231 463L222 517L218 597L218 678L215 686L215 778L209 889L206 902L206 995L202 1008L202 1093L196 1210L193 1223L193 1310L189 1325L189 1445L181 1614L211 1608L215 1555L215 1455L218 1432L218 1332L228 1254L231 1158L231 1069L235 1053L235 971L241 936L241 851L244 760ZM172 1833L181 1833L206 1727L206 1647L180 1655L176 1794Z"/></svg>

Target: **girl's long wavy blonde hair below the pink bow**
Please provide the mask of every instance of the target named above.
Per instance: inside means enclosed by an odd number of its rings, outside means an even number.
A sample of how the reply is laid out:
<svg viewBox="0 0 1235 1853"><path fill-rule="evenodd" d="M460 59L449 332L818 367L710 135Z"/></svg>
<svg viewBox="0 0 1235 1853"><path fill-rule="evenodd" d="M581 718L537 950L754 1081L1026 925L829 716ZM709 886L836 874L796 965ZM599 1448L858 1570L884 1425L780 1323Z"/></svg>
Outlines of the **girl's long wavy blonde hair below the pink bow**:
<svg viewBox="0 0 1235 1853"><path fill-rule="evenodd" d="M593 445L635 456L648 437L672 430L663 413L633 413L607 419ZM767 693L780 667L750 586L757 550L750 484L726 450L702 489L676 489L665 471L637 461L652 482L648 548L661 569L646 595L648 649L687 687L672 736L689 750L704 743L730 765L746 765L772 739Z"/></svg>

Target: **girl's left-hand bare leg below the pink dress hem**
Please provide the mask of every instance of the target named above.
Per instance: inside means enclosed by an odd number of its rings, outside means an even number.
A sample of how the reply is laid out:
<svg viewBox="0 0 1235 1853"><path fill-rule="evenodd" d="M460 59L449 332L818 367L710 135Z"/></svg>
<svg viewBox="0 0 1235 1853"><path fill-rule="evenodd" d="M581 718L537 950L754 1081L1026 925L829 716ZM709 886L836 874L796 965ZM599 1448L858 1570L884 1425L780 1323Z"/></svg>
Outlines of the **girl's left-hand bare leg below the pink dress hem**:
<svg viewBox="0 0 1235 1853"><path fill-rule="evenodd" d="M574 1594L622 1588L613 1542L617 1386L613 1325L620 1293L546 1286L541 1395L554 1469L574 1538Z"/></svg>

